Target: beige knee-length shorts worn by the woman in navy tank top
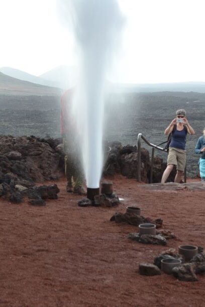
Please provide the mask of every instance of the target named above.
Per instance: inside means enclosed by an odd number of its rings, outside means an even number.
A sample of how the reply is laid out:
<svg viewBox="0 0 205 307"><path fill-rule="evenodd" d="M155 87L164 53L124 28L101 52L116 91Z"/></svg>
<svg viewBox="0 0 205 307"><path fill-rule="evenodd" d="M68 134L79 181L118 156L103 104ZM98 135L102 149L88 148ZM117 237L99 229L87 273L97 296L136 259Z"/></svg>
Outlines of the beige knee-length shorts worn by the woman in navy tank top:
<svg viewBox="0 0 205 307"><path fill-rule="evenodd" d="M176 165L177 171L184 171L186 165L186 150L175 147L169 147L167 165Z"/></svg>

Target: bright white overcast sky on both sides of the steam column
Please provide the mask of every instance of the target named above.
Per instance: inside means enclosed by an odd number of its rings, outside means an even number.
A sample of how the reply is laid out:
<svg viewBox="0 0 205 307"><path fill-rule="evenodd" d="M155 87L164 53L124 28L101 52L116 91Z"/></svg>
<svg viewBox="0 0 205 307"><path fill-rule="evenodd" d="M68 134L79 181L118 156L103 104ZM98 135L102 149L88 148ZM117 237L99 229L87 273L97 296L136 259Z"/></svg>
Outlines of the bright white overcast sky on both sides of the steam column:
<svg viewBox="0 0 205 307"><path fill-rule="evenodd" d="M58 0L0 0L0 67L40 75L75 65ZM205 82L204 0L118 0L126 18L111 79L122 83Z"/></svg>

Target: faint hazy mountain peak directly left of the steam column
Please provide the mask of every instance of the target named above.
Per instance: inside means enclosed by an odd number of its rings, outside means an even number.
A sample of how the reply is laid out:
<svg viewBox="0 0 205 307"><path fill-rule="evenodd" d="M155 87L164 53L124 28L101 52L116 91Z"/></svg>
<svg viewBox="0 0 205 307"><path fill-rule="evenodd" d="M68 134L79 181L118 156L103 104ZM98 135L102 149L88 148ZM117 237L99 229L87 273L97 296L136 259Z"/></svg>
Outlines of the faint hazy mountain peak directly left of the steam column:
<svg viewBox="0 0 205 307"><path fill-rule="evenodd" d="M77 68L75 66L57 66L39 76L55 83L57 87L68 89L76 84Z"/></svg>

